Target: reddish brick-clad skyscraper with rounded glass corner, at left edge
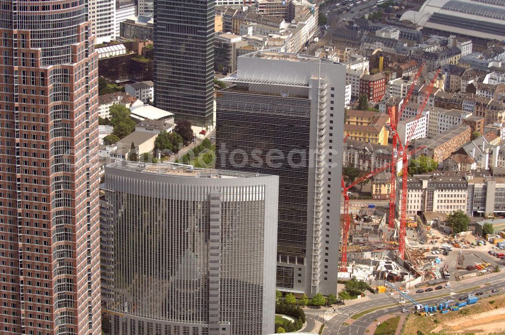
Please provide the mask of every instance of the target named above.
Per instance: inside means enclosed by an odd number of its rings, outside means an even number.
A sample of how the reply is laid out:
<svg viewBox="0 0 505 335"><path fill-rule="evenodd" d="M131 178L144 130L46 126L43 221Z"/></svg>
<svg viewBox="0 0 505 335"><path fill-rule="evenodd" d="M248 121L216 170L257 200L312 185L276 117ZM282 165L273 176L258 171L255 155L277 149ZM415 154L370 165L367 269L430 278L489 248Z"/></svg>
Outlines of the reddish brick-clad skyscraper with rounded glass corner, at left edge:
<svg viewBox="0 0 505 335"><path fill-rule="evenodd" d="M98 335L98 70L87 1L0 3L0 333Z"/></svg>

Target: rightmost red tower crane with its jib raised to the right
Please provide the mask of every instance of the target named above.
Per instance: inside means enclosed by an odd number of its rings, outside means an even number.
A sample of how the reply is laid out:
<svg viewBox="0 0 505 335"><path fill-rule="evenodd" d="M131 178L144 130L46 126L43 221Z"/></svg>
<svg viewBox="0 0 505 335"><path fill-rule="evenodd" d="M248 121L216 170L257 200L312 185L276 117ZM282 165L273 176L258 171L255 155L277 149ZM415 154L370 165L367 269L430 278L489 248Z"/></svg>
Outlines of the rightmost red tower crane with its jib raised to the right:
<svg viewBox="0 0 505 335"><path fill-rule="evenodd" d="M416 131L417 124L419 122L419 119L421 118L421 115L423 114L424 107L426 106L426 103L428 102L428 99L430 97L431 91L433 90L433 86L435 85L435 81L438 78L438 74L440 73L440 68L435 71L435 76L430 82L430 85L428 86L428 91L426 92L426 96L423 99L423 102L419 106L419 109L417 111L416 115L416 121L414 123L414 126L410 129L409 134L406 136L405 139L405 144L402 147L402 178L401 178L401 207L400 207L400 234L399 234L399 248L398 248L398 256L401 259L405 259L405 235L407 234L407 177L408 177L408 166L409 166L409 143L412 138L412 135L414 135L414 132ZM398 136L396 134L396 136ZM398 144L401 148L401 141L398 138Z"/></svg>

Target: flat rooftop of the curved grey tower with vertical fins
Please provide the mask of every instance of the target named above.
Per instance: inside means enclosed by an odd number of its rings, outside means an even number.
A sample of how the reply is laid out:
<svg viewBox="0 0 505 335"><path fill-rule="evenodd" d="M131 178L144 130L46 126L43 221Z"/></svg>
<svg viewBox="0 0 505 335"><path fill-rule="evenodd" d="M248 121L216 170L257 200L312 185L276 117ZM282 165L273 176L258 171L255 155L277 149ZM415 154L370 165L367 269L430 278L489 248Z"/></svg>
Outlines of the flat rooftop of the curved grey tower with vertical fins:
<svg viewBox="0 0 505 335"><path fill-rule="evenodd" d="M267 175L246 173L246 172L233 172L227 170L216 169L203 169L196 168L189 164L182 163L145 163L134 162L127 160L119 160L107 167L114 167L116 169L124 169L135 171L137 173L154 174L154 175L170 175L174 177L193 177L193 178L254 178L264 177Z"/></svg>

